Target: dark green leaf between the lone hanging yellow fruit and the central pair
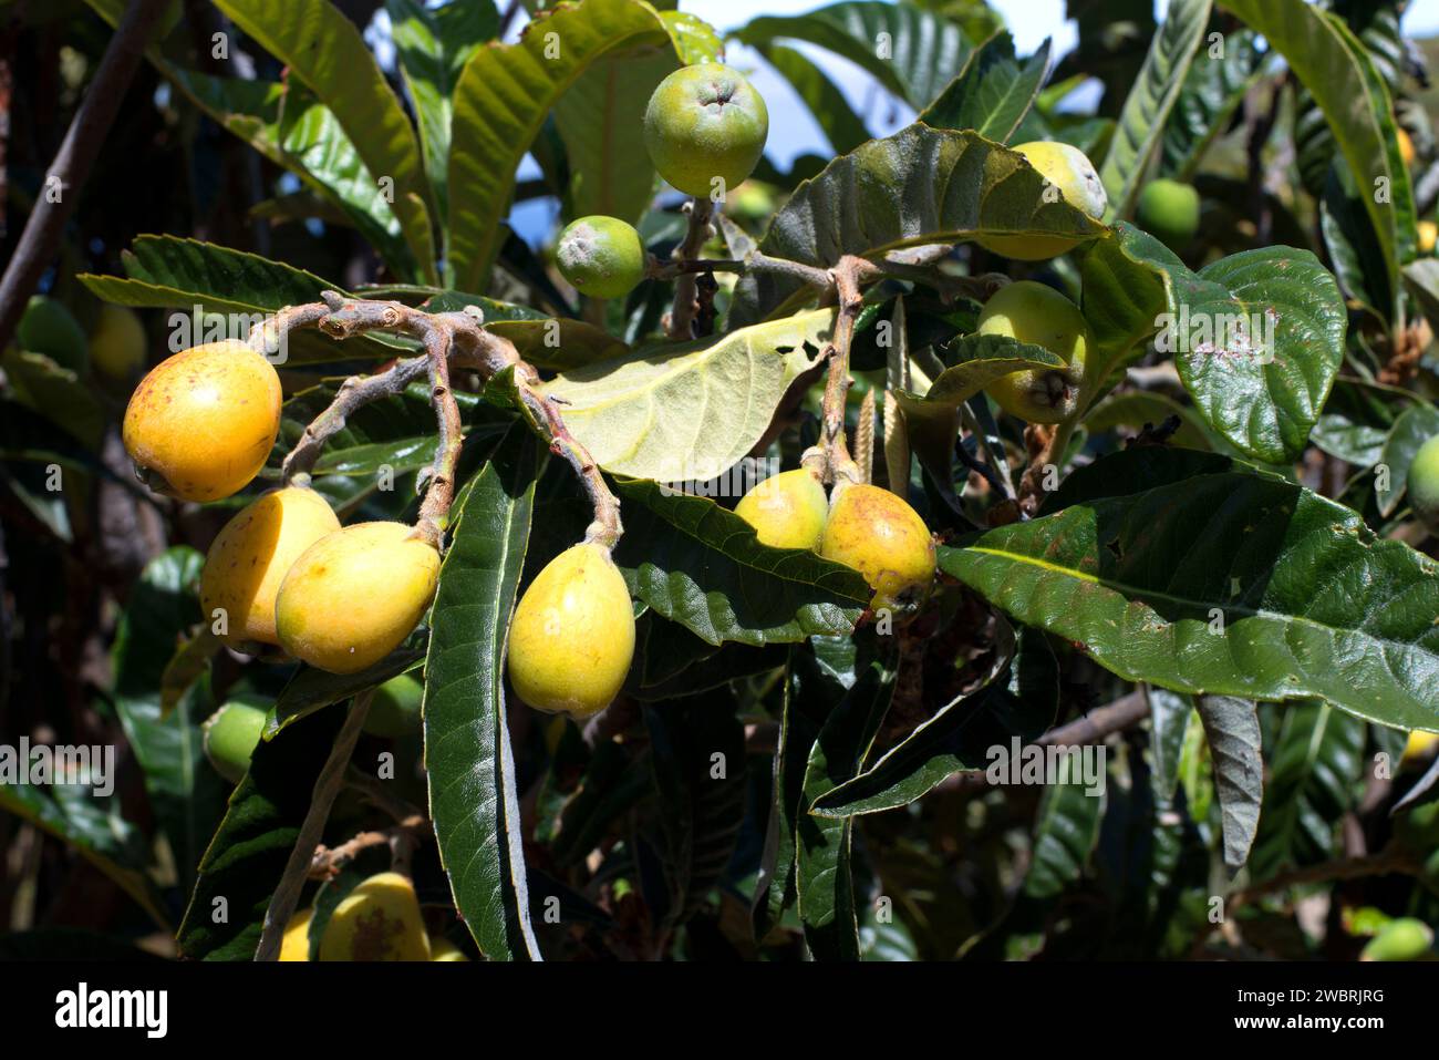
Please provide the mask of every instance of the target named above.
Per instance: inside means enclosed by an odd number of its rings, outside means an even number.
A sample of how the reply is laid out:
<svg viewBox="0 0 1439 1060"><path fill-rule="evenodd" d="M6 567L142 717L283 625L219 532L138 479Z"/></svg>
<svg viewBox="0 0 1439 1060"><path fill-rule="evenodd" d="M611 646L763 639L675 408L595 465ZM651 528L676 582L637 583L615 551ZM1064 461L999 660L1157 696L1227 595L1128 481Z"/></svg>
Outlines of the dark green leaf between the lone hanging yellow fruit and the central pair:
<svg viewBox="0 0 1439 1060"><path fill-rule="evenodd" d="M855 570L806 549L760 544L708 497L619 480L625 537L614 550L630 593L708 644L842 635L873 595Z"/></svg>

